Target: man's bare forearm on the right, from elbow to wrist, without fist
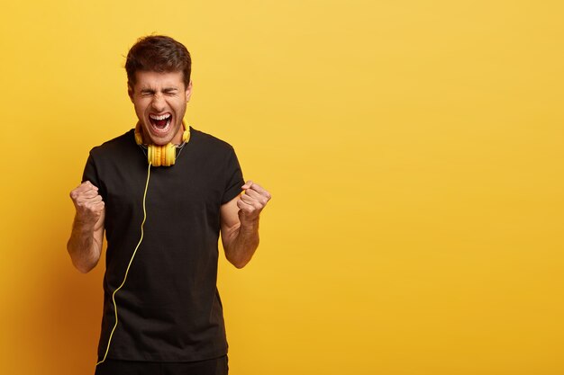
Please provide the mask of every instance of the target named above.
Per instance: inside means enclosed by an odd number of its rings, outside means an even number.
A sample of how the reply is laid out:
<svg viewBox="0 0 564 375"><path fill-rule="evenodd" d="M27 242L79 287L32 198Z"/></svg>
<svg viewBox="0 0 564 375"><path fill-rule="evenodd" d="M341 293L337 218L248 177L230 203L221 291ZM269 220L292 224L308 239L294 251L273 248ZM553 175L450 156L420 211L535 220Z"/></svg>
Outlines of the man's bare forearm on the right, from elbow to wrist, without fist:
<svg viewBox="0 0 564 375"><path fill-rule="evenodd" d="M242 268L259 247L259 219L244 223L232 231L225 247L225 257L235 267Z"/></svg>

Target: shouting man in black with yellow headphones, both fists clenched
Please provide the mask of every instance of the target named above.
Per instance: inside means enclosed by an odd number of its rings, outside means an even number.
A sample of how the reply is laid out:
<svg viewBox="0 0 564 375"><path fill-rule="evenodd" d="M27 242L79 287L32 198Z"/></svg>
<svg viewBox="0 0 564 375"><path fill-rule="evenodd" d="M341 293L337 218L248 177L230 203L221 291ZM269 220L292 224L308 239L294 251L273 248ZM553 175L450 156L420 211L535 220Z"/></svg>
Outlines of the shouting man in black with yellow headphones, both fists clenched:
<svg viewBox="0 0 564 375"><path fill-rule="evenodd" d="M237 268L247 264L270 194L243 181L230 145L184 124L184 45L141 38L125 69L136 129L93 148L70 192L67 247L80 272L96 266L107 239L96 375L226 374L217 242L221 234Z"/></svg>

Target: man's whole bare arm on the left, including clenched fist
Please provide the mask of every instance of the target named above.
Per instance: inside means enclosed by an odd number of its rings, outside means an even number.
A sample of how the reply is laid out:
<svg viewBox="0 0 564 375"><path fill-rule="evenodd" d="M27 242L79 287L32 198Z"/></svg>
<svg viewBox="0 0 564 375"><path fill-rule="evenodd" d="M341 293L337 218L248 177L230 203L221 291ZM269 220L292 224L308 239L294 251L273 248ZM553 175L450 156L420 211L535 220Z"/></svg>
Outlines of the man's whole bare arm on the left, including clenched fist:
<svg viewBox="0 0 564 375"><path fill-rule="evenodd" d="M86 181L70 192L75 205L75 219L72 224L67 250L78 271L86 273L96 267L104 241L105 208L98 188Z"/></svg>

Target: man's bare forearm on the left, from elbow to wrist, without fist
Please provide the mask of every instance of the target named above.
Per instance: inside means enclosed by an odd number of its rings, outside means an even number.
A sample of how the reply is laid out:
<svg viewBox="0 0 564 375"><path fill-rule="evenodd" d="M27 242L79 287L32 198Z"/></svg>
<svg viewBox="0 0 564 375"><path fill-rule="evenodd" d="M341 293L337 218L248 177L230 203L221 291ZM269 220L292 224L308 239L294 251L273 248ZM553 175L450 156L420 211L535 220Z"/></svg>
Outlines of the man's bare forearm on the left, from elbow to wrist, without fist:
<svg viewBox="0 0 564 375"><path fill-rule="evenodd" d="M72 263L80 272L89 272L100 259L102 244L96 239L95 233L96 223L87 223L75 217L67 250Z"/></svg>

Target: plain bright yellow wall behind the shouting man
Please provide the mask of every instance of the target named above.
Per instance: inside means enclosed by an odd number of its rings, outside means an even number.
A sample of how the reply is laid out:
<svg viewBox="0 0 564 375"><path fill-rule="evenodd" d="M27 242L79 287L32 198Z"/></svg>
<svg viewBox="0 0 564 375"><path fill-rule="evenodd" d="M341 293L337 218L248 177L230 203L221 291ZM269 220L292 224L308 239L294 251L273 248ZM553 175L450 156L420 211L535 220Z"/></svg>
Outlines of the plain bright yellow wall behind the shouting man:
<svg viewBox="0 0 564 375"><path fill-rule="evenodd" d="M233 375L564 373L559 1L6 2L0 373L89 374L103 264L66 252L124 55L194 59L186 120L273 200L220 260Z"/></svg>

